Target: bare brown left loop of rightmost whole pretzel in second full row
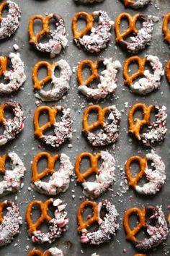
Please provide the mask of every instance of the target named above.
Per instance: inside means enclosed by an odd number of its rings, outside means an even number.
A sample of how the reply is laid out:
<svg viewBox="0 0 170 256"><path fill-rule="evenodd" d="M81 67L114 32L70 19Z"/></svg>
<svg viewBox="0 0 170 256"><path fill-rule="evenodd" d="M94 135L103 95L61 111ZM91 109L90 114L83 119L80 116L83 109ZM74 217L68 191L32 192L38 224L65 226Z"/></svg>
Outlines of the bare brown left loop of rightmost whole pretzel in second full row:
<svg viewBox="0 0 170 256"><path fill-rule="evenodd" d="M130 64L135 62L138 64L138 71L135 73L129 75L128 69L130 67ZM144 71L145 71L145 65L146 65L146 58L140 58L138 56L132 56L129 59L125 61L124 67L123 67L123 76L125 78L125 84L126 85L133 85L133 81L140 77L143 76Z"/></svg>

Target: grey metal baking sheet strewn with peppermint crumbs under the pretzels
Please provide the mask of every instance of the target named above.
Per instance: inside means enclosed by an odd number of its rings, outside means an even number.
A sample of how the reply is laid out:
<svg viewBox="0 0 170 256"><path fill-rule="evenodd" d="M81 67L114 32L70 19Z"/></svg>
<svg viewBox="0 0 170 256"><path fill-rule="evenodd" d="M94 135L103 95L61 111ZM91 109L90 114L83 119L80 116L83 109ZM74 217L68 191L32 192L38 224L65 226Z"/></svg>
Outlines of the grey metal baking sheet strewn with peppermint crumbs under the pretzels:
<svg viewBox="0 0 170 256"><path fill-rule="evenodd" d="M35 192L34 190L29 190L30 187L30 179L31 179L31 161L32 158L41 150L47 150L50 153L66 153L71 157L71 161L74 164L76 155L80 152L89 151L91 153L98 152L99 149L92 148L86 139L81 136L81 120L82 115L84 112L84 107L88 106L88 103L91 101L86 101L83 95L79 95L77 91L77 83L76 83L76 74L73 73L71 79L71 89L66 95L66 98L59 101L58 105L66 105L71 108L71 116L73 118L73 140L71 144L73 148L68 148L68 143L63 145L59 149L53 148L46 148L41 145L41 148L38 148L40 142L35 140L34 138L34 129L32 125L32 116L35 111L35 95L32 90L32 67L37 61L48 59L47 56L44 54L40 54L35 51L28 43L28 35L27 35L27 25L28 20L32 14L46 14L56 12L61 14L66 22L66 32L68 34L68 43L69 47L66 48L66 51L63 54L55 58L58 59L66 59L71 67L76 67L78 62L83 59L96 59L97 56L92 54L86 54L84 51L80 51L72 42L72 32L71 32L71 20L74 14L79 11L87 11L92 12L94 10L102 9L106 11L112 20L115 20L117 14L120 12L125 12L126 9L121 3L121 1L116 0L105 0L102 4L96 4L92 7L85 7L76 5L73 3L72 0L15 0L19 7L22 10L22 19L20 23L19 30L17 33L12 36L9 40L4 40L1 42L0 47L0 54L6 56L9 54L10 51L13 51L14 43L19 45L19 53L24 60L26 74L27 74L27 81L24 83L23 89L19 90L18 93L14 95L9 95L8 97L1 98L1 103L4 101L17 101L22 104L24 107L25 115L27 119L24 121L24 131L19 135L16 140L9 142L4 147L0 148L1 155L6 152L14 151L19 154L19 156L23 159L25 166L27 167L26 174L24 176L24 187L14 195L8 195L3 198L4 199L16 199L19 203L19 210L22 213L23 217L23 225L20 229L19 235L14 239L12 244L9 244L6 247L2 247L0 249L0 255L4 256L22 256L27 255L27 249L32 249L35 247L35 244L32 244L29 237L27 236L27 225L25 223L25 209L27 208L28 202L31 200L45 200L45 195L40 195L39 193ZM136 12L127 9L128 12L131 14L135 14ZM162 16L169 11L169 0L153 0L153 4L149 5L148 8L142 10L141 12L147 14L154 14L160 17L160 21L155 24L154 32L153 32L153 39L151 41L151 46L149 46L145 51L140 53L140 56L145 56L145 54L156 54L162 61L165 63L167 59L169 59L169 46L167 46L163 42L163 36L161 33L161 24L162 24ZM120 60L121 64L127 57L127 54L122 51L121 48L115 46L115 33L112 33L112 41L109 44L109 47L106 51L103 51L98 57L113 57L115 60ZM125 89L125 90L122 90ZM170 186L169 186L169 179L170 179L170 172L169 172L169 132L167 132L166 140L162 145L156 146L156 153L162 156L163 160L166 163L166 185L158 192L158 194L154 197L141 197L136 195L133 192L133 189L129 189L128 192L122 193L122 187L120 187L120 182L122 181L122 175L124 174L124 163L128 159L128 157L132 154L138 154L139 151L146 155L150 150L146 148L142 148L138 142L136 143L135 140L132 140L131 137L128 136L128 121L127 121L127 114L128 109L125 108L125 103L128 102L128 106L132 106L133 103L136 102L143 102L143 103L161 103L167 107L168 114L170 101L169 101L169 85L164 79L161 82L161 90L156 91L155 93L151 93L146 97L138 97L137 95L133 95L129 92L128 88L125 88L123 85L123 78L122 78L122 71L118 74L118 86L115 94L115 98L111 97L107 99L107 101L100 102L101 106L109 106L111 104L116 104L117 108L122 111L122 122L121 122L121 135L120 140L116 143L115 149L112 146L107 147L110 153L115 155L115 159L117 162L116 168L116 182L113 185L113 191L106 192L102 197L97 199L97 202L102 200L102 198L108 198L111 200L120 216L118 222L120 223L120 230L117 232L117 235L108 243L103 244L99 247L91 247L89 245L83 245L79 241L79 234L76 231L76 210L81 203L79 199L80 195L82 194L81 185L76 186L75 182L71 182L68 191L64 194L59 195L58 197L65 200L68 204L68 216L70 218L69 221L69 229L61 236L60 239L56 240L51 246L50 244L44 244L42 246L37 246L37 248L47 249L52 246L57 246L59 248L64 248L64 252L66 255L69 256L90 256L92 253L97 252L100 256L107 256L107 255L127 255L131 256L135 253L135 249L133 248L130 242L127 242L125 239L125 232L122 227L122 216L126 209L138 206L140 208L147 203L151 203L153 205L163 205L163 210L166 214L168 214L167 205L169 205L169 196L170 196ZM53 103L47 103L48 106L53 105ZM170 121L168 119L168 128L170 125ZM123 187L125 189L125 187ZM75 193L71 192L71 190L75 190ZM119 195L117 195L117 193ZM72 195L75 195L75 199L73 200ZM123 249L126 249L127 252L124 253ZM160 247L154 249L151 252L148 252L147 255L170 255L170 243L167 241L166 243L162 244Z"/></svg>

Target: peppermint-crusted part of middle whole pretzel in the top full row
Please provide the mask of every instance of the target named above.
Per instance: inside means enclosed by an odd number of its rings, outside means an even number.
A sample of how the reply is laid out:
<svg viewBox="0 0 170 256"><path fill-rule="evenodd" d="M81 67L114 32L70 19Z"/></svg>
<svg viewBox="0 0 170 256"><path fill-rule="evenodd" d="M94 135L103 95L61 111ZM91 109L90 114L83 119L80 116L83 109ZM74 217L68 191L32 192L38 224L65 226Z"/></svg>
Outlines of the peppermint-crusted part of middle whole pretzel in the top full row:
<svg viewBox="0 0 170 256"><path fill-rule="evenodd" d="M111 38L110 30L114 22L109 18L107 12L96 11L92 15L99 17L99 25L91 28L89 35L84 35L82 38L74 38L74 41L79 48L84 48L91 53L99 53L107 47Z"/></svg>

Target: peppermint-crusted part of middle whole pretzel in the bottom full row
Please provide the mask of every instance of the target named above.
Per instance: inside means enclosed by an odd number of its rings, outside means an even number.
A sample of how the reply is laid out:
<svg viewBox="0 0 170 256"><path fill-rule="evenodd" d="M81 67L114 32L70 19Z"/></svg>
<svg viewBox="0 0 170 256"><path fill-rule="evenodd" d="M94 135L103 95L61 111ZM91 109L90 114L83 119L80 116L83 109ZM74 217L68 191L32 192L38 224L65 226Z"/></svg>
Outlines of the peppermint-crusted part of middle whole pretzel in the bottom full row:
<svg viewBox="0 0 170 256"><path fill-rule="evenodd" d="M104 219L100 218L100 212L102 207L106 208L107 213ZM81 242L85 244L102 244L109 242L111 236L115 236L119 224L117 224L117 210L115 205L112 205L108 200L102 200L98 205L99 216L99 229L94 232L89 232L86 229L81 230Z"/></svg>

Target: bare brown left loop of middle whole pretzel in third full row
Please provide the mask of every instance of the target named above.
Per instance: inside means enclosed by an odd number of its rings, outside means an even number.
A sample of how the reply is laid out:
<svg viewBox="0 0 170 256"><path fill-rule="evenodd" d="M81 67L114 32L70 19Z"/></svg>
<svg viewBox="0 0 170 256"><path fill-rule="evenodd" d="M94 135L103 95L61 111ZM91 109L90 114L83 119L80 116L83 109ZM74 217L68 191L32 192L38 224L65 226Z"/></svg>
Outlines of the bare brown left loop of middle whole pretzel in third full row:
<svg viewBox="0 0 170 256"><path fill-rule="evenodd" d="M92 110L96 110L97 114L98 114L98 118L97 121L94 121L93 124L89 125L89 113ZM94 129L96 129L97 127L100 126L104 126L104 117L107 114L107 111L109 110L108 107L106 108L101 108L99 105L93 105L93 106L89 106L88 108L86 108L86 110L84 111L84 118L83 118L83 132L90 132Z"/></svg>

